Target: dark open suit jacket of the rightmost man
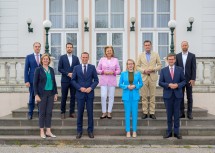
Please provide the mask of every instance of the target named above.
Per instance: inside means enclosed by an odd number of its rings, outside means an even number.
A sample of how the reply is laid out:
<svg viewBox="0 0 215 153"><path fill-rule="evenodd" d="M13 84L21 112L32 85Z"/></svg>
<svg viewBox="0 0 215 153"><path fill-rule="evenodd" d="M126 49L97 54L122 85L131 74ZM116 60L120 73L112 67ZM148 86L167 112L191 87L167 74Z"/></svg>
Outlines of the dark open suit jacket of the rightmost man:
<svg viewBox="0 0 215 153"><path fill-rule="evenodd" d="M176 55L175 65L184 69L182 53ZM187 61L185 64L185 79L187 82L190 80L196 80L196 56L190 52L188 52Z"/></svg>

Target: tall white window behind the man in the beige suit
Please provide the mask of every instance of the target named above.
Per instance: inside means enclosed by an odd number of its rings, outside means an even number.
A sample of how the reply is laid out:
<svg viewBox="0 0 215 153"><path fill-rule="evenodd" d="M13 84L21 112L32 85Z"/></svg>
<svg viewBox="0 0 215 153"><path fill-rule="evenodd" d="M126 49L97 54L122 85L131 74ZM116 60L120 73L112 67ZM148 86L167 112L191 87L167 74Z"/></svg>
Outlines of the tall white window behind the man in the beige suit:
<svg viewBox="0 0 215 153"><path fill-rule="evenodd" d="M170 6L170 0L141 0L140 50L144 50L145 40L152 41L152 49L159 53L163 67L165 66L164 57L169 53Z"/></svg>

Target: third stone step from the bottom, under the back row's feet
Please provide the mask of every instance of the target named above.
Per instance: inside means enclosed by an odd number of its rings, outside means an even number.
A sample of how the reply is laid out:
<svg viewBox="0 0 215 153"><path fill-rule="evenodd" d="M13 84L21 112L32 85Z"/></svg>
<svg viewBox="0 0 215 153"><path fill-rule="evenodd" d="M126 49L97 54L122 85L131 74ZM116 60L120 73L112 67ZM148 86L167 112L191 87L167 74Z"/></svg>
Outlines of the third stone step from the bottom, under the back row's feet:
<svg viewBox="0 0 215 153"><path fill-rule="evenodd" d="M132 123L132 121L131 121ZM141 119L138 118L138 126L166 126L167 120L166 117L158 117L156 120L152 119ZM52 118L52 126L76 126L77 119L76 118L66 118L61 120L59 118ZM83 119L83 125L87 126L87 118ZM206 118L194 118L193 120L189 120L187 118L180 120L181 126L214 126L215 125L215 117L206 117ZM34 118L33 120L27 120L26 118L12 118L4 117L0 119L0 126L36 126L38 127L38 118ZM117 126L124 127L125 121L123 117L116 117L113 119L94 119L95 127L102 126Z"/></svg>

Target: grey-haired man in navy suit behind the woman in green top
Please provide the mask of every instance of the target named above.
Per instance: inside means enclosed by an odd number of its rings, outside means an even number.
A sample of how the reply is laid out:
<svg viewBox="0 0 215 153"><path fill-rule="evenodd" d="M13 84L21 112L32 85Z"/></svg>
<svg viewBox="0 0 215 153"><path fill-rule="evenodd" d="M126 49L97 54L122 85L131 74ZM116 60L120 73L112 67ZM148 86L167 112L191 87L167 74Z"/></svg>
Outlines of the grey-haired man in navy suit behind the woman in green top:
<svg viewBox="0 0 215 153"><path fill-rule="evenodd" d="M25 86L29 88L29 103L28 103L28 119L32 120L33 111L35 107L35 96L34 96L34 87L33 87L33 78L34 71L37 67L40 66L40 48L41 44L39 42L35 42L33 44L34 53L27 55L25 58Z"/></svg>

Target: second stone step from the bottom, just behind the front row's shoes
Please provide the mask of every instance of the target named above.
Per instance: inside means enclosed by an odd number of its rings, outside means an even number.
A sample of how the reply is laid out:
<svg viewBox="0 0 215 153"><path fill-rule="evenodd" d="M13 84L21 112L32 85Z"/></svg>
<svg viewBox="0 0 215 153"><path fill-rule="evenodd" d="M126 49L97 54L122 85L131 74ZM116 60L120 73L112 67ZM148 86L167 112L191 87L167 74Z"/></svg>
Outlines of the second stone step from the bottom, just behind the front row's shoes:
<svg viewBox="0 0 215 153"><path fill-rule="evenodd" d="M87 134L87 127L84 126L84 134ZM161 136L166 133L166 126L138 126L137 134L139 136ZM58 136L63 135L76 135L76 126L53 126L52 132ZM181 127L180 133L183 136L214 136L215 138L215 127ZM95 127L94 128L95 135L103 135L103 136L124 136L125 129L124 127ZM0 135L39 135L39 127L11 127L4 126L0 127Z"/></svg>

